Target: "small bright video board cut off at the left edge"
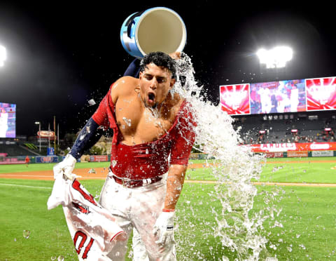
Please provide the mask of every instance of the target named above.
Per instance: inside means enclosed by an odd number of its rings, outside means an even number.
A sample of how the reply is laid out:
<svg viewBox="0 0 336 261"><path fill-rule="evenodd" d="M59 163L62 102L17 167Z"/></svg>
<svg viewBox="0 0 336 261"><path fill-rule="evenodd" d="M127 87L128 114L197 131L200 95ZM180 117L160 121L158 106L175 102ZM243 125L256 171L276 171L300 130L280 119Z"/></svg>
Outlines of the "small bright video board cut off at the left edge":
<svg viewBox="0 0 336 261"><path fill-rule="evenodd" d="M15 138L16 105L0 102L0 138Z"/></svg>

